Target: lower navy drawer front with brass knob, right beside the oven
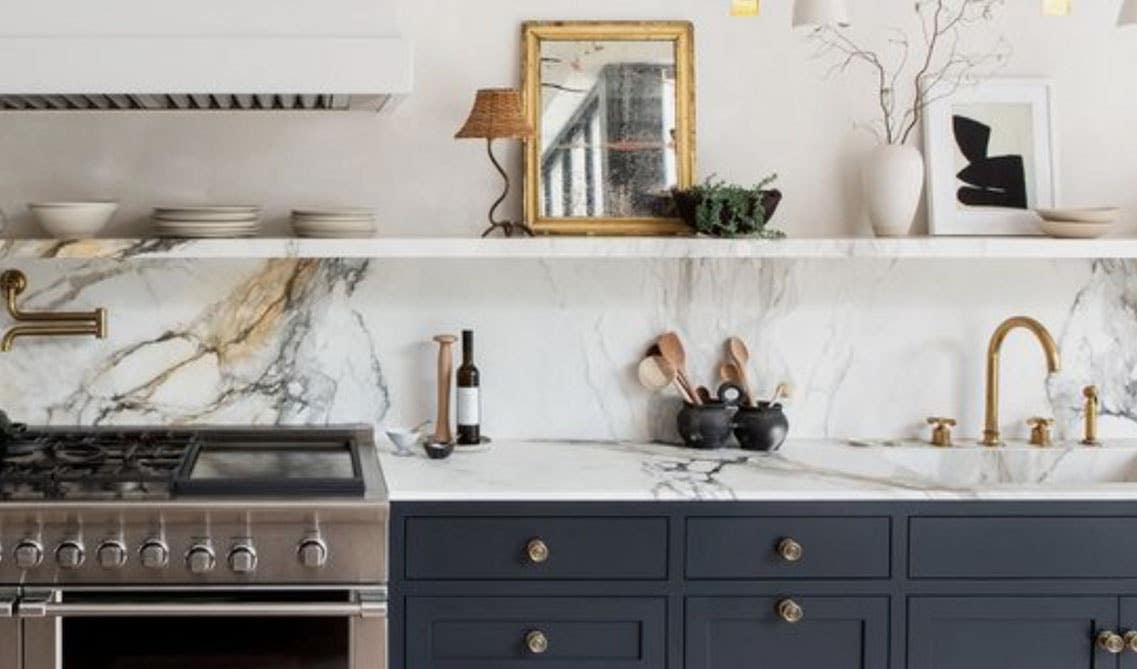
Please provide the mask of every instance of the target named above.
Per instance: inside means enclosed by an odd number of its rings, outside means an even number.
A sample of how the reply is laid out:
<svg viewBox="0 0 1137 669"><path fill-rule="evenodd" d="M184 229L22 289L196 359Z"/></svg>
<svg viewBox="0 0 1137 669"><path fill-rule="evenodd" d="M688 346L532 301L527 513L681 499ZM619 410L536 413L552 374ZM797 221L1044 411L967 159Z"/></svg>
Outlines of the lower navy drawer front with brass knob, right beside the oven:
<svg viewBox="0 0 1137 669"><path fill-rule="evenodd" d="M407 669L659 669L665 613L663 598L410 597Z"/></svg>

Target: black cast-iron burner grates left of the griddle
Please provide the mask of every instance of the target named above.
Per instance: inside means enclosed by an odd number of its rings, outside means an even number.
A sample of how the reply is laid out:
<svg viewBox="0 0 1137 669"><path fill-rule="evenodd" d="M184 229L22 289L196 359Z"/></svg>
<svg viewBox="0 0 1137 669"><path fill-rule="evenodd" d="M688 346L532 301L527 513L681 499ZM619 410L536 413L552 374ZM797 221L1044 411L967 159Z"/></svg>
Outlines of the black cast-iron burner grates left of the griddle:
<svg viewBox="0 0 1137 669"><path fill-rule="evenodd" d="M168 498L200 438L169 431L26 431L0 453L0 499Z"/></svg>

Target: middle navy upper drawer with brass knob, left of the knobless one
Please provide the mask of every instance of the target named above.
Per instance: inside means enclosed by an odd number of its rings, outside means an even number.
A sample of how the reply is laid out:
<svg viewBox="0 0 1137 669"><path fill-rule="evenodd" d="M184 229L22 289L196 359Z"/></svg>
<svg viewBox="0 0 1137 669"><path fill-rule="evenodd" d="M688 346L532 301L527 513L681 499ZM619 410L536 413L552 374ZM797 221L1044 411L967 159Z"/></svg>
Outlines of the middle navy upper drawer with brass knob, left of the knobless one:
<svg viewBox="0 0 1137 669"><path fill-rule="evenodd" d="M691 518L687 578L888 578L890 543L888 518Z"/></svg>

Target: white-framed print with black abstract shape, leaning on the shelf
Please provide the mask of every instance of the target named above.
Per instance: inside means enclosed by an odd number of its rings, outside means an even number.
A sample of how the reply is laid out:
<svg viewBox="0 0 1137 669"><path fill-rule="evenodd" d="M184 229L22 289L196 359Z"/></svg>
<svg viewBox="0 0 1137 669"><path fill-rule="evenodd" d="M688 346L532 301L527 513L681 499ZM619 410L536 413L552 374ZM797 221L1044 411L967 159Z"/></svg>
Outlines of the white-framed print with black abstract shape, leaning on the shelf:
<svg viewBox="0 0 1137 669"><path fill-rule="evenodd" d="M929 97L929 233L1041 234L1034 209L1059 199L1051 83L986 80Z"/></svg>

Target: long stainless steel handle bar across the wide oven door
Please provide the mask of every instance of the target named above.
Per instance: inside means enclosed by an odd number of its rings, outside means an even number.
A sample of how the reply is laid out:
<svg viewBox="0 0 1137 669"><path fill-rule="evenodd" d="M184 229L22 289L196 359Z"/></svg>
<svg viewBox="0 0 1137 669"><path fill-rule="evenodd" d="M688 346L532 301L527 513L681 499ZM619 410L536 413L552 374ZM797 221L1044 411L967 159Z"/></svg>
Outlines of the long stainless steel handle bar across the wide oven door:
<svg viewBox="0 0 1137 669"><path fill-rule="evenodd" d="M0 613L3 603L0 602ZM24 598L19 618L385 618L387 602L360 597L354 602L60 602Z"/></svg>

